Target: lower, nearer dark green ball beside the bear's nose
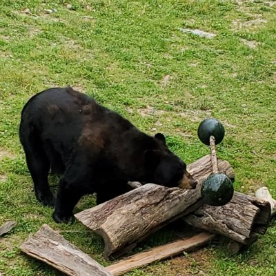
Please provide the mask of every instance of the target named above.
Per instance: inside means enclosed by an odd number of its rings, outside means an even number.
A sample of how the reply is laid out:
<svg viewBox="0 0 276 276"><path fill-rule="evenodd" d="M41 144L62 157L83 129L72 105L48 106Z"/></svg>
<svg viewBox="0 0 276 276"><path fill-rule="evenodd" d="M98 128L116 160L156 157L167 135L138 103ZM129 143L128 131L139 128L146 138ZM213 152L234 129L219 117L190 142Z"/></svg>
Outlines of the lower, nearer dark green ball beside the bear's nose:
<svg viewBox="0 0 276 276"><path fill-rule="evenodd" d="M234 195L233 183L226 175L210 175L201 186L201 195L206 204L210 206L223 206Z"/></svg>

